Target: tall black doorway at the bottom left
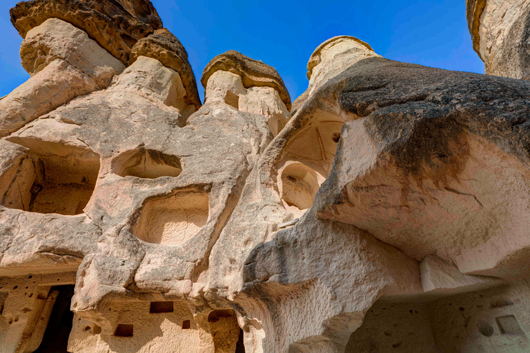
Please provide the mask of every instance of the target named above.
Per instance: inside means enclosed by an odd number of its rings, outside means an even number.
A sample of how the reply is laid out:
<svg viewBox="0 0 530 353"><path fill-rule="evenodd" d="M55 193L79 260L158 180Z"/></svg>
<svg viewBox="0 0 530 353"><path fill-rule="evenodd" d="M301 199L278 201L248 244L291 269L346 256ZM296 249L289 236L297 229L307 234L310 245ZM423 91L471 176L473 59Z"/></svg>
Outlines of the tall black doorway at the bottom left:
<svg viewBox="0 0 530 353"><path fill-rule="evenodd" d="M68 353L66 347L74 319L74 313L70 311L74 287L74 285L57 285L50 289L50 292L59 290L59 295L53 305L41 345L34 353Z"/></svg>

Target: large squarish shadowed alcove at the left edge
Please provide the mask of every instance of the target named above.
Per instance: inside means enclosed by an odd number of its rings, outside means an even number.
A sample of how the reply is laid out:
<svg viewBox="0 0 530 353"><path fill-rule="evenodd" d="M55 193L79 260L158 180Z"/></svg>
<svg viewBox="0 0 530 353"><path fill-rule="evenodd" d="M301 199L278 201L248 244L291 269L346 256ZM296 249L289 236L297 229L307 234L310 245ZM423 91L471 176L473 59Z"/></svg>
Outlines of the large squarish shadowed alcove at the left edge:
<svg viewBox="0 0 530 353"><path fill-rule="evenodd" d="M1 176L8 187L0 204L38 213L83 213L97 181L98 154L60 143L13 142L30 150Z"/></svg>

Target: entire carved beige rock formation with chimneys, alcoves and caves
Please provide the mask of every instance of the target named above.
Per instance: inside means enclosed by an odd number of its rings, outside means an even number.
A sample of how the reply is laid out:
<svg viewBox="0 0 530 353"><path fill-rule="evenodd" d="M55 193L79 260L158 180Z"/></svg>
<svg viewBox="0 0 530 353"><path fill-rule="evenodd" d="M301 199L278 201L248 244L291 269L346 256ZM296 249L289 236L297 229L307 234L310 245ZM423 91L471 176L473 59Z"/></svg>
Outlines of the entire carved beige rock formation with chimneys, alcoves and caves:
<svg viewBox="0 0 530 353"><path fill-rule="evenodd" d="M149 1L12 19L1 353L530 350L527 81L340 36L292 104L234 51L203 104Z"/></svg>

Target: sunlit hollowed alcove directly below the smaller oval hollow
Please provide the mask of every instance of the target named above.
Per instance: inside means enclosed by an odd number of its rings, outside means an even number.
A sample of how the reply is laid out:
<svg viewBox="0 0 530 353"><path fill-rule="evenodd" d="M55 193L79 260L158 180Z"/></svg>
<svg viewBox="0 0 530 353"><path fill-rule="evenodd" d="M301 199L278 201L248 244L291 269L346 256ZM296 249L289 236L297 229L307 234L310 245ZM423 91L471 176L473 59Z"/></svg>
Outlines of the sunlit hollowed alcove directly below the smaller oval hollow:
<svg viewBox="0 0 530 353"><path fill-rule="evenodd" d="M182 245L206 225L208 215L206 192L177 192L147 201L132 231L148 243Z"/></svg>

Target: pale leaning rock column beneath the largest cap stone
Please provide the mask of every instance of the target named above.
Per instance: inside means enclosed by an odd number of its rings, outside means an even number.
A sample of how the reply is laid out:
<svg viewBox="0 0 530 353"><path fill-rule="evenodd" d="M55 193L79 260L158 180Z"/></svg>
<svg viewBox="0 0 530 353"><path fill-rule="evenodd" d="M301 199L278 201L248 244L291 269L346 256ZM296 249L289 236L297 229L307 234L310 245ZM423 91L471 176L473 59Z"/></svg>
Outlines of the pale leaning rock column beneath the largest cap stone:
<svg viewBox="0 0 530 353"><path fill-rule="evenodd" d="M32 77L0 101L0 137L71 99L106 88L125 66L88 35L58 19L28 32L21 48Z"/></svg>

